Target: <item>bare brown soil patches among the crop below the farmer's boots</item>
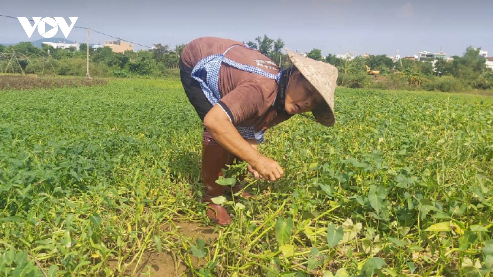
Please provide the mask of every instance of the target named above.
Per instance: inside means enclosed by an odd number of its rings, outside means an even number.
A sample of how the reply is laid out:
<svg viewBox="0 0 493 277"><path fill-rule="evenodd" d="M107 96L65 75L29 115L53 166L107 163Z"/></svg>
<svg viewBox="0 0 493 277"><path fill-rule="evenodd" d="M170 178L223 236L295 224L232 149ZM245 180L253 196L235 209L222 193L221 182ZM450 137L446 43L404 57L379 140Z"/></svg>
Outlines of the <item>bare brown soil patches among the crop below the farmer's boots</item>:
<svg viewBox="0 0 493 277"><path fill-rule="evenodd" d="M209 239L215 240L218 237L217 233L213 233L213 226L200 226L198 223L189 223L189 222L175 222L175 225L183 236L195 241L196 238L205 239L208 241ZM170 224L164 224L161 226L161 229L165 232L173 232L175 228ZM136 270L135 277L144 277L148 276L147 273L150 273L151 277L191 277L192 274L187 271L185 265L176 261L179 264L175 264L175 259L171 255L171 253L162 252L158 253L144 253L142 255L141 263L139 268ZM110 262L111 268L116 268L116 262ZM132 272L135 269L135 264L130 265L126 272L125 276L132 276Z"/></svg>

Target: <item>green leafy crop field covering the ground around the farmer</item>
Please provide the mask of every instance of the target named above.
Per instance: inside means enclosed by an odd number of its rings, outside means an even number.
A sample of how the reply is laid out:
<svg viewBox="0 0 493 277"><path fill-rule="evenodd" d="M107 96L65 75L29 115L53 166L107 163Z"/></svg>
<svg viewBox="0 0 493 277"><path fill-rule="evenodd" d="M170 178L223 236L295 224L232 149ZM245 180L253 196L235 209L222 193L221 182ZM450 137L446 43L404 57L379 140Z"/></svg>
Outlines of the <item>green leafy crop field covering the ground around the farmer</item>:
<svg viewBox="0 0 493 277"><path fill-rule="evenodd" d="M268 131L285 176L207 227L179 81L2 91L0 276L488 276L493 99L338 89L336 115Z"/></svg>

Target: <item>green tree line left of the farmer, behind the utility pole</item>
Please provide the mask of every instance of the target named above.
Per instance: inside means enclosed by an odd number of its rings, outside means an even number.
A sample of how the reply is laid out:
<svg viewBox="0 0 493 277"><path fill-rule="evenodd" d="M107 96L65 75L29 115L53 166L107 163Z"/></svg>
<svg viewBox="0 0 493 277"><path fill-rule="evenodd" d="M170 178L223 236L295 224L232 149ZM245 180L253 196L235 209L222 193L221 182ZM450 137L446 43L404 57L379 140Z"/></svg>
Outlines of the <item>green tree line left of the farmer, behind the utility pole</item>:
<svg viewBox="0 0 493 277"><path fill-rule="evenodd" d="M89 49L90 74L99 77L131 77L131 76L167 76L177 75L178 61L181 51L186 44L169 45L156 44L153 49L128 50L116 53L109 47ZM20 42L11 46L0 45L0 70L13 73L52 73L59 75L84 76L86 73L85 43L75 48L55 49L43 44L42 48L35 47L31 42ZM13 61L9 61L15 53ZM8 66L8 67L7 67ZM41 69L41 67L44 67Z"/></svg>

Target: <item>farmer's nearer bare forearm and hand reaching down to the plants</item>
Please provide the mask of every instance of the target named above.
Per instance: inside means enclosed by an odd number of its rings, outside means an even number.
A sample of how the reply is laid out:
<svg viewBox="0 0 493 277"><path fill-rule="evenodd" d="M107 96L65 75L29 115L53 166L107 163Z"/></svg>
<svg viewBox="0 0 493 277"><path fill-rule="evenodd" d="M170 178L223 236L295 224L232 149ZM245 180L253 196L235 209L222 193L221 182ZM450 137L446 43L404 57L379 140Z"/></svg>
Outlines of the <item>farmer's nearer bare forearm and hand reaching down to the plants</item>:
<svg viewBox="0 0 493 277"><path fill-rule="evenodd" d="M219 105L214 105L206 114L204 126L217 143L246 161L263 178L275 181L284 174L276 161L260 154L238 133L229 116Z"/></svg>

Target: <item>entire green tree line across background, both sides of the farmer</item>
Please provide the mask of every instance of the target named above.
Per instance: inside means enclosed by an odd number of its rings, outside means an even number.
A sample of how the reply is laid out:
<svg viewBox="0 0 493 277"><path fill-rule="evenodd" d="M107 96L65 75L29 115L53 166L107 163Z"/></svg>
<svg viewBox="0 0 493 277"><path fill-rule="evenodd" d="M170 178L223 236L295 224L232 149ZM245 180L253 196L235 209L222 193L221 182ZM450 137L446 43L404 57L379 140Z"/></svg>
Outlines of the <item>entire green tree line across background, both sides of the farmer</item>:
<svg viewBox="0 0 493 277"><path fill-rule="evenodd" d="M288 68L287 55L282 53L284 41L267 35L258 36L246 45L271 58L281 68ZM115 53L109 47L90 49L90 72L92 76L167 76L177 75L181 51L186 44L155 44L153 49ZM20 42L11 46L0 45L0 52L16 52L7 72L39 72L39 63L29 63L31 59L44 59L43 67L53 67L60 75L85 75L86 44L75 49L54 49L44 45L35 47L30 42ZM433 67L432 61L401 59L397 63L386 55L357 56L353 60L337 58L333 54L323 57L321 50L315 48L308 52L308 58L326 62L339 70L338 85L353 88L405 89L430 91L463 91L470 89L493 89L493 72L486 68L486 59L479 55L480 49L468 47L462 56L453 56L452 61L439 59ZM46 64L49 61L49 65ZM7 65L6 56L0 55L0 70ZM380 74L370 75L367 69L379 70ZM44 70L44 68L43 68ZM46 69L49 72L50 70Z"/></svg>

